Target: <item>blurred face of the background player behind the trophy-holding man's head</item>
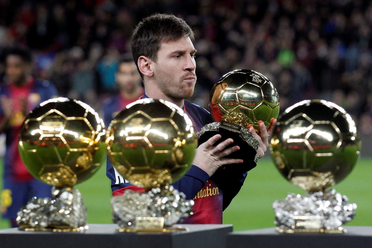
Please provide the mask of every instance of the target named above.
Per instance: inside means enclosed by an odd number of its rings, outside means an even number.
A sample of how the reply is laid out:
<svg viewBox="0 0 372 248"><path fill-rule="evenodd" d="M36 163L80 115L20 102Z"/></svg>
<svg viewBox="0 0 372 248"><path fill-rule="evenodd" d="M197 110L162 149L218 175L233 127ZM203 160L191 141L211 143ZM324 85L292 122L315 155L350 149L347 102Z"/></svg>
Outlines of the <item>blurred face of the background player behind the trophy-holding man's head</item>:
<svg viewBox="0 0 372 248"><path fill-rule="evenodd" d="M126 91L134 90L140 85L141 76L134 62L119 64L119 69L116 72L116 82L120 89Z"/></svg>

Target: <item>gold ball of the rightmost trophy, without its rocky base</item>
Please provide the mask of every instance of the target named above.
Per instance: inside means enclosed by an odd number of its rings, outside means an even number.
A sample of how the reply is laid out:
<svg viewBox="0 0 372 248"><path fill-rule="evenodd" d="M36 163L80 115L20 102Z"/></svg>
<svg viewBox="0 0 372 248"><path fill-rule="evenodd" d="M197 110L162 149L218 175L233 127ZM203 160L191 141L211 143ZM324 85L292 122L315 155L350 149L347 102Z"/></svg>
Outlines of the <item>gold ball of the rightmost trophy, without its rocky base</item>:
<svg viewBox="0 0 372 248"><path fill-rule="evenodd" d="M307 191L344 179L359 156L356 126L344 109L324 100L299 102L279 117L270 143L280 173Z"/></svg>

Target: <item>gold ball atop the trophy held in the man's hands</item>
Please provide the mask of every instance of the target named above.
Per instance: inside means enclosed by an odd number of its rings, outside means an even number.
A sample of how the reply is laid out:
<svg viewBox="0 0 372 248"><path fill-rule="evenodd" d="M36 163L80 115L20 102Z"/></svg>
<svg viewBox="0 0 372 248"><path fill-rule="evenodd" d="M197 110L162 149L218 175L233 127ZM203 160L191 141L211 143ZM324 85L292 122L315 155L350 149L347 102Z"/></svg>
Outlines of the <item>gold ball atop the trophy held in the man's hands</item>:
<svg viewBox="0 0 372 248"><path fill-rule="evenodd" d="M271 118L279 115L279 96L273 84L263 74L252 70L235 70L222 76L213 86L209 108L215 121L225 120L259 130L266 128Z"/></svg>

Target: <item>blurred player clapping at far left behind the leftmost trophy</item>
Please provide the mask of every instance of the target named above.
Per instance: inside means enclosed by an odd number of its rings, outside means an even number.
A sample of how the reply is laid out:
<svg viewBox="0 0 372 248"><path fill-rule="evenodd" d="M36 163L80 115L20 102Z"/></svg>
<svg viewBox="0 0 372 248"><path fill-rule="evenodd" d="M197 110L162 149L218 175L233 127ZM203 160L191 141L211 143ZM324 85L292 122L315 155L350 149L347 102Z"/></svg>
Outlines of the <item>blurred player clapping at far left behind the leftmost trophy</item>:
<svg viewBox="0 0 372 248"><path fill-rule="evenodd" d="M1 213L17 226L20 207L31 197L51 197L51 186L29 174L18 152L20 128L29 111L39 103L57 95L57 90L47 81L31 75L31 54L14 49L5 57L7 83L0 89L0 133L6 134L4 156L4 182L1 192Z"/></svg>

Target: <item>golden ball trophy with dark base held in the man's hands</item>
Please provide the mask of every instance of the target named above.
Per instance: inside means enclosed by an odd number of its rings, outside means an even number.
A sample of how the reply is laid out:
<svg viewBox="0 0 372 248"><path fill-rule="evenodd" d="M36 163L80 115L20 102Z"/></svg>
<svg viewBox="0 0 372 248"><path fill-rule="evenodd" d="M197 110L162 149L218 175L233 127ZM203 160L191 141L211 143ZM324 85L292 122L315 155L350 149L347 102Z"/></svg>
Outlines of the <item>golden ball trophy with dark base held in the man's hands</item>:
<svg viewBox="0 0 372 248"><path fill-rule="evenodd" d="M248 129L253 125L258 131L259 121L269 127L272 118L279 115L278 92L270 80L253 70L231 71L213 86L209 109L215 122L205 125L196 134L199 144L215 134L222 136L217 143L232 138L234 143L228 147L238 145L240 150L226 158L242 158L244 163L239 167L244 167L244 171L253 169L259 158L258 141Z"/></svg>

